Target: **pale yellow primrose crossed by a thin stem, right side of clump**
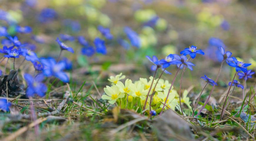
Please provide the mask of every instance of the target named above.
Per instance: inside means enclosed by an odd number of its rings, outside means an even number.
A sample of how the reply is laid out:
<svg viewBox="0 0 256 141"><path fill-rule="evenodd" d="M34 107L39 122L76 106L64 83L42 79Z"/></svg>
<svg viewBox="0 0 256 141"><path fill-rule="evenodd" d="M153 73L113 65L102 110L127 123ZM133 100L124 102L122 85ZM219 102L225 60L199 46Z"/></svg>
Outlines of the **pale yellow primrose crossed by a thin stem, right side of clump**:
<svg viewBox="0 0 256 141"><path fill-rule="evenodd" d="M164 90L164 93L162 92L158 92L158 97L162 99L162 103L165 102L166 98L167 98L167 94L168 94L168 91L169 90ZM167 99L167 102L166 102L166 106L171 108L172 110L175 110L175 107L177 106L178 104L178 100L175 99L175 94L173 92L170 92L169 94L169 97ZM163 108L164 104L161 104L160 105L160 108ZM164 107L165 109L167 109L167 107Z"/></svg>

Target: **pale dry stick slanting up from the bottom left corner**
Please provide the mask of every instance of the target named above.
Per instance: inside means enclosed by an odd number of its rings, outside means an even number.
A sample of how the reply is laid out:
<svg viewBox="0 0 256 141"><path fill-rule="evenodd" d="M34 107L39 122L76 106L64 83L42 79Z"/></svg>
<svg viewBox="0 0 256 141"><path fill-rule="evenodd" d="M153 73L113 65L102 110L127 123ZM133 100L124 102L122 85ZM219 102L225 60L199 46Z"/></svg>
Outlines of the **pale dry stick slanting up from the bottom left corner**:
<svg viewBox="0 0 256 141"><path fill-rule="evenodd" d="M32 128L32 127L38 125L39 123L41 123L45 120L47 120L46 117L45 118L39 118L36 121L30 123L28 126L20 128L18 131L14 132L11 135L9 135L8 137L4 138L2 141L14 140L16 137L18 137L22 133L26 132L27 130L29 130L29 128Z"/></svg>

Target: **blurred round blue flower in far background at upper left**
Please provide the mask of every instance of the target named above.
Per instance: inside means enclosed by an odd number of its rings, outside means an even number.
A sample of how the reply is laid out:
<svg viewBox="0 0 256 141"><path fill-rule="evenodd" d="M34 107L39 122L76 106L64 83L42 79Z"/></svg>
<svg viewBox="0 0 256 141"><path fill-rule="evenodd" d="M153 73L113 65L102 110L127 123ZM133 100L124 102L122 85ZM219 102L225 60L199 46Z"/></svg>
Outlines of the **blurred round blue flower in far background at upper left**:
<svg viewBox="0 0 256 141"><path fill-rule="evenodd" d="M38 20L41 23L48 23L57 18L57 13L54 9L45 8L39 14Z"/></svg>

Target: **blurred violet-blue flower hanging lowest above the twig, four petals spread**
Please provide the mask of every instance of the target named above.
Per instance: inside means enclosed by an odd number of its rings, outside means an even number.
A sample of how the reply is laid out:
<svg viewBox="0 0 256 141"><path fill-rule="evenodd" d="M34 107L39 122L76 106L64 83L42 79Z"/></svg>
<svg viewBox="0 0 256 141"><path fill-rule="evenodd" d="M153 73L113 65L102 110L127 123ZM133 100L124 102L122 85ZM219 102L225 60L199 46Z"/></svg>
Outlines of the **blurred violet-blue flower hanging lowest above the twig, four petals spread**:
<svg viewBox="0 0 256 141"><path fill-rule="evenodd" d="M42 81L44 80L44 75L39 74L36 75L36 77L32 77L30 74L25 73L24 78L27 82L27 90L26 95L28 97L32 97L35 94L39 95L40 97L43 97L47 91L47 87Z"/></svg>

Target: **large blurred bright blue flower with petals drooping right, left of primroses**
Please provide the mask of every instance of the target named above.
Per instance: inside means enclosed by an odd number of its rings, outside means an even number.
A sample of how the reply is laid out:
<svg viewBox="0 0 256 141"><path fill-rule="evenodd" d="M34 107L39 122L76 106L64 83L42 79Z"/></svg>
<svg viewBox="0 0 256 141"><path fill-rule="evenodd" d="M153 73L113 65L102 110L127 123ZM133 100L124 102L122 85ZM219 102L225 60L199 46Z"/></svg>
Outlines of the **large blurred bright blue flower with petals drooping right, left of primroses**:
<svg viewBox="0 0 256 141"><path fill-rule="evenodd" d="M55 59L53 58L42 58L40 62L44 66L43 73L45 76L54 76L65 83L69 82L69 77L63 71L66 68L66 64L64 62L56 63Z"/></svg>

